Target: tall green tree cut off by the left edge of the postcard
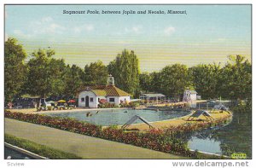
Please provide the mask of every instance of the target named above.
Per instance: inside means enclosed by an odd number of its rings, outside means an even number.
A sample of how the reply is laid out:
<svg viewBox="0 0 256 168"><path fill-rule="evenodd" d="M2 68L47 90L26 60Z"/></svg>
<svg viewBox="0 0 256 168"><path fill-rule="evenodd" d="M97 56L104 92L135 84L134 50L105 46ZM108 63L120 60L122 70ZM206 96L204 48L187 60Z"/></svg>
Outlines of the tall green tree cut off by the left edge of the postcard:
<svg viewBox="0 0 256 168"><path fill-rule="evenodd" d="M15 38L4 43L4 102L13 101L21 93L26 78L26 51Z"/></svg>

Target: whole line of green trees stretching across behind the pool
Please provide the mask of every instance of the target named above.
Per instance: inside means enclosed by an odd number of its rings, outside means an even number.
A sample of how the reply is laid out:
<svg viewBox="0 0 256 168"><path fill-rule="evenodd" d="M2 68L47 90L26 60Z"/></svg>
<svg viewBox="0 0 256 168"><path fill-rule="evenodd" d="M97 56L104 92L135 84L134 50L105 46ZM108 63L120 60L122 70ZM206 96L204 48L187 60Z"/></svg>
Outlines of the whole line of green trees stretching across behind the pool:
<svg viewBox="0 0 256 168"><path fill-rule="evenodd" d="M186 89L196 90L203 99L219 96L229 100L252 100L252 65L242 55L230 55L220 64L200 64L187 67L173 64L159 72L140 72L134 51L124 49L105 66L91 62L84 69L55 59L52 49L38 49L30 58L15 38L4 43L5 103L25 94L74 98L86 84L106 84L112 74L115 85L134 98L142 93L157 92L168 97L180 97Z"/></svg>

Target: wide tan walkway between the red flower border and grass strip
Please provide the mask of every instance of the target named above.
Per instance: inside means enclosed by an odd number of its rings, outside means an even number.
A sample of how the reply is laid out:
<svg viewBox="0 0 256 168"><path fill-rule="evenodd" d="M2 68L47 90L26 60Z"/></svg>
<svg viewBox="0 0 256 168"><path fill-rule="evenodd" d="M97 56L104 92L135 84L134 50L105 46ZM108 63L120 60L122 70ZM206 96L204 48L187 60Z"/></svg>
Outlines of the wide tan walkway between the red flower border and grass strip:
<svg viewBox="0 0 256 168"><path fill-rule="evenodd" d="M77 154L84 159L184 159L174 154L165 154L15 119L5 118L5 133Z"/></svg>

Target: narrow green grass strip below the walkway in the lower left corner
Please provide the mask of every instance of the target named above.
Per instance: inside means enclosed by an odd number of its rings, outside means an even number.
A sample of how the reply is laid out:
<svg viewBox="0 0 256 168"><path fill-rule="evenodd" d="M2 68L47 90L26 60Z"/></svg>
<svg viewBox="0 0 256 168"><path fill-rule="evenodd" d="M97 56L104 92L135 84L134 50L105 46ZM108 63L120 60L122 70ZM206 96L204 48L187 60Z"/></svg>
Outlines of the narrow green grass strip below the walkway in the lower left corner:
<svg viewBox="0 0 256 168"><path fill-rule="evenodd" d="M40 145L16 136L11 136L9 134L4 134L4 142L8 142L19 148L24 148L34 154L38 154L49 159L82 159L75 154L66 153L55 148L49 148L47 146Z"/></svg>

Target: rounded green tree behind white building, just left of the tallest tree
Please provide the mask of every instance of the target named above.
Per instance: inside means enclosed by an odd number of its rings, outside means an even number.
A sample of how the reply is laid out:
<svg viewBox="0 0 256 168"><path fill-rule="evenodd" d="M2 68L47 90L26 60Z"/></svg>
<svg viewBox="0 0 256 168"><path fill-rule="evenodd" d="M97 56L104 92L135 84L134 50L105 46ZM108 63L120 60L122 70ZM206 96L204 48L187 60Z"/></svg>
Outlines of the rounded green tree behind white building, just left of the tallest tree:
<svg viewBox="0 0 256 168"><path fill-rule="evenodd" d="M108 68L102 61L96 61L84 67L85 84L107 84Z"/></svg>

